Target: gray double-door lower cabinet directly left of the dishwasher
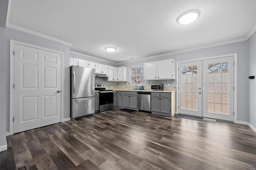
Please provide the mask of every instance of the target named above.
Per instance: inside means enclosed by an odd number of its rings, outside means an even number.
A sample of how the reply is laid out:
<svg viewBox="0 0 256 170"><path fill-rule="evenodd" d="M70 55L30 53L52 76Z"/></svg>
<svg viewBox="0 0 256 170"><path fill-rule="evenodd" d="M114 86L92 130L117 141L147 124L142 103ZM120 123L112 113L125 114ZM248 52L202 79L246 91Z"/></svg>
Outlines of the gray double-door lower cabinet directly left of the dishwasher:
<svg viewBox="0 0 256 170"><path fill-rule="evenodd" d="M123 91L123 107L126 109L138 110L137 92Z"/></svg>

